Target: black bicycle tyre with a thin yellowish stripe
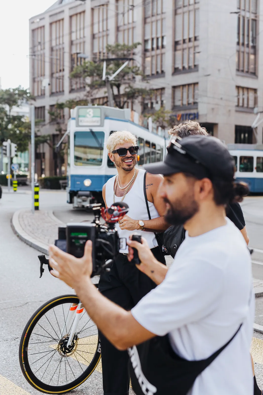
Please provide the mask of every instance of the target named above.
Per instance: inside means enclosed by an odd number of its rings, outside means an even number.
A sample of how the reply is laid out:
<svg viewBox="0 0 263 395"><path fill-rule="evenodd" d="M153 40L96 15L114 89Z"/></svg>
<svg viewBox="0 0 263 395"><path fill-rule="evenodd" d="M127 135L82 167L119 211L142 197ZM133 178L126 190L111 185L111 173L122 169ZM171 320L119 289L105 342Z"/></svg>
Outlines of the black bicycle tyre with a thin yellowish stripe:
<svg viewBox="0 0 263 395"><path fill-rule="evenodd" d="M54 307L63 304L63 302L66 303L79 303L79 299L76 295L62 295L59 297L55 297L53 299L50 299L48 302L44 303L41 307L39 307L36 312L32 315L28 323L26 324L24 331L22 333L22 337L20 340L20 345L19 345L19 363L20 367L22 370L22 373L28 383L37 389L38 391L44 392L44 393L50 393L50 394L58 394L58 393L65 393L69 392L72 389L80 386L80 384L84 383L85 380L87 380L88 377L93 373L95 368L97 367L100 359L101 359L101 345L100 345L100 339L98 335L98 341L97 341L97 346L96 346L96 351L94 353L94 356L90 362L90 365L84 370L84 372L76 378L76 380L73 380L67 384L63 385L49 385L44 382L41 382L39 378L35 376L33 373L30 363L28 361L28 344L30 341L30 336L32 335L32 331L34 330L35 326L37 325L37 322L49 311ZM95 326L95 325L93 325ZM91 335L90 335L91 336ZM85 338L85 337L84 337ZM96 344L96 343L93 343ZM40 353L39 353L40 354ZM93 353L90 353L93 354ZM65 362L66 365L66 362ZM74 376L75 377L75 376Z"/></svg>

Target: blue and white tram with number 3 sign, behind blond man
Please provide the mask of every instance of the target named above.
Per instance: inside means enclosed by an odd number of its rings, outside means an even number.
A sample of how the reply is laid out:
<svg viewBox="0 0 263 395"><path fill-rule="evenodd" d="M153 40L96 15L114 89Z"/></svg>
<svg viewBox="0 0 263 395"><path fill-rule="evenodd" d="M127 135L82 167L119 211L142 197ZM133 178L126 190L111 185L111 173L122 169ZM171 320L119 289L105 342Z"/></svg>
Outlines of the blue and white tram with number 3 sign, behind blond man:
<svg viewBox="0 0 263 395"><path fill-rule="evenodd" d="M138 164L162 161L166 152L163 137L131 122L130 109L78 106L68 122L67 203L87 207L102 202L102 187L117 174L108 158L106 141L111 132L129 130L138 138Z"/></svg>

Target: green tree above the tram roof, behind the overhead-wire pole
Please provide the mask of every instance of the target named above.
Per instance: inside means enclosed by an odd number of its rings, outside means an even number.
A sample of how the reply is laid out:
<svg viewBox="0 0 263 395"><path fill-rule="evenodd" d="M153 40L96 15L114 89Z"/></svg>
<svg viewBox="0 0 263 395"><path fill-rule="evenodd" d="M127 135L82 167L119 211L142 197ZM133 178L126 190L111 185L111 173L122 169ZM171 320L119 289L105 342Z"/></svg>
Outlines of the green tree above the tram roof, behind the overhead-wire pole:
<svg viewBox="0 0 263 395"><path fill-rule="evenodd" d="M114 45L107 45L106 51L108 58L132 58L134 50L140 43L132 45L116 43ZM124 60L107 61L106 76L112 76L124 63ZM138 98L146 98L151 94L151 91L145 88L135 86L135 76L142 75L139 66L136 66L134 61L129 62L123 70L110 81L114 103L119 108L124 108L129 100L137 100ZM103 81L103 62L91 60L84 62L82 65L76 66L70 74L72 78L88 79L88 100L95 97L98 90L106 88L106 82ZM105 103L106 104L106 103Z"/></svg>

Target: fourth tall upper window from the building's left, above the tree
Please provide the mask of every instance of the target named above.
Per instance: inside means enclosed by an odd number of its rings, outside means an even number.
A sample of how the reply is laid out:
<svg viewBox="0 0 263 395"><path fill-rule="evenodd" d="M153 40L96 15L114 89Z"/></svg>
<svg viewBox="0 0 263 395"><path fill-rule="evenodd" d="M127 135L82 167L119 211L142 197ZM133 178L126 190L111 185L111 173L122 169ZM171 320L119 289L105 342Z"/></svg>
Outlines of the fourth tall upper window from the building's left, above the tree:
<svg viewBox="0 0 263 395"><path fill-rule="evenodd" d="M106 45L108 44L108 5L98 6L92 9L92 34L93 34L93 59L107 56Z"/></svg>

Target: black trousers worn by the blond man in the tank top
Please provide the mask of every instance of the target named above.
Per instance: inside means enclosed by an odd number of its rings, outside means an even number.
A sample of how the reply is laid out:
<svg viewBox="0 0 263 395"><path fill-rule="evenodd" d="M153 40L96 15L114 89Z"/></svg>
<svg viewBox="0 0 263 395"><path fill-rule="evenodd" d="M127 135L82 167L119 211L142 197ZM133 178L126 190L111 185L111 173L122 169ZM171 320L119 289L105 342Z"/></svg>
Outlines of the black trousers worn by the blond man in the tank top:
<svg viewBox="0 0 263 395"><path fill-rule="evenodd" d="M165 264L159 247L151 250ZM142 297L156 287L156 284L128 261L127 255L119 254L109 273L103 273L99 280L99 291L108 299L131 310ZM119 351L99 331L101 339L101 361L104 395L127 395L130 376L127 351Z"/></svg>

